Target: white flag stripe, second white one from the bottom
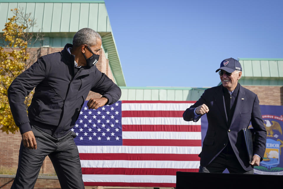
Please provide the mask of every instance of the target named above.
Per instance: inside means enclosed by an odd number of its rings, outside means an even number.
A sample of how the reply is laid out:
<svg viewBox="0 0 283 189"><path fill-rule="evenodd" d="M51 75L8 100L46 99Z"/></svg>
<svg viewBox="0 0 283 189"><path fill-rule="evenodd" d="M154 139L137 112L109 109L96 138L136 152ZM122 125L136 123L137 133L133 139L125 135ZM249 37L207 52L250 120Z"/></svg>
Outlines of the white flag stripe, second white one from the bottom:
<svg viewBox="0 0 283 189"><path fill-rule="evenodd" d="M153 168L198 169L199 161L153 161L153 160L80 160L85 168Z"/></svg>

